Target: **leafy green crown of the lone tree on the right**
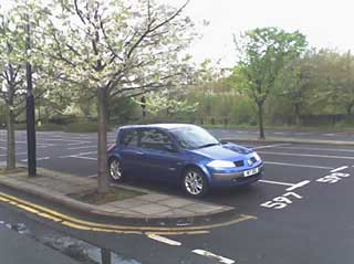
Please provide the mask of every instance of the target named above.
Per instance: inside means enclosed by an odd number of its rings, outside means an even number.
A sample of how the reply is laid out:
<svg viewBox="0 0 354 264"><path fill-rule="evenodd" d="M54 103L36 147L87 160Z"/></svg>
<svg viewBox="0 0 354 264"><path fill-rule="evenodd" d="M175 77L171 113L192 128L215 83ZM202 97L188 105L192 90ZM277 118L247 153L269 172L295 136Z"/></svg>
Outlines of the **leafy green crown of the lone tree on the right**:
<svg viewBox="0 0 354 264"><path fill-rule="evenodd" d="M240 56L235 73L243 78L241 87L258 105L266 102L284 65L299 57L306 46L300 32L277 28L247 31L235 42Z"/></svg>

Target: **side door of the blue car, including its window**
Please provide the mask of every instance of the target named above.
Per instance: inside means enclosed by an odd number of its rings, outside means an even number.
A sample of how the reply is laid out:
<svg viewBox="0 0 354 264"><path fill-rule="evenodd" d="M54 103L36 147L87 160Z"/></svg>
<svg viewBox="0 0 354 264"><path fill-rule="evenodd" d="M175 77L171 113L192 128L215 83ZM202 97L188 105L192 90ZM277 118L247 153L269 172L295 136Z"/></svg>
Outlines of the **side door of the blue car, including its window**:
<svg viewBox="0 0 354 264"><path fill-rule="evenodd" d="M142 130L142 175L159 180L174 181L183 159L169 135L157 128Z"/></svg>

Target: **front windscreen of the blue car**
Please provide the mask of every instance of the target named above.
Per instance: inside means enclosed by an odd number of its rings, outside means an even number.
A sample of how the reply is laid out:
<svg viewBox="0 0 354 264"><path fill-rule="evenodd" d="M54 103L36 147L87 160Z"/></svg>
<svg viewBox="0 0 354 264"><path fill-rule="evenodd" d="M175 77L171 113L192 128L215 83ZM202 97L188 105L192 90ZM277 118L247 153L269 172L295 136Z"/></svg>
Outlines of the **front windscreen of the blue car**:
<svg viewBox="0 0 354 264"><path fill-rule="evenodd" d="M200 127L179 127L171 129L170 133L176 137L179 145L186 149L196 149L220 144L214 136Z"/></svg>

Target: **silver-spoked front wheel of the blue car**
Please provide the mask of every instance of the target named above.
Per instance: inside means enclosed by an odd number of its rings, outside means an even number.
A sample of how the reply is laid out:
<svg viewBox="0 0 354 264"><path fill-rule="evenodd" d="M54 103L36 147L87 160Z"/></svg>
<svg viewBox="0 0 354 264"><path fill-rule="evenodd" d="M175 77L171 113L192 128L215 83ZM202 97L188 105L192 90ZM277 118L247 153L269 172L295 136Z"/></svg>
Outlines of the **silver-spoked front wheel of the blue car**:
<svg viewBox="0 0 354 264"><path fill-rule="evenodd" d="M196 198L205 196L209 189L207 177L198 168L186 169L181 184L188 196Z"/></svg>

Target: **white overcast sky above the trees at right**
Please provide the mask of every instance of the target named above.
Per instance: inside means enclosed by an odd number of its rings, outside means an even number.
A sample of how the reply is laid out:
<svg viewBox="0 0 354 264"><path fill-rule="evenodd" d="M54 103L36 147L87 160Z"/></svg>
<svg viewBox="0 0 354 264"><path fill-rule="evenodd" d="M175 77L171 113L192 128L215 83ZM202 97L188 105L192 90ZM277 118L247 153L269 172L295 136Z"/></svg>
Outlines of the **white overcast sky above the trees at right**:
<svg viewBox="0 0 354 264"><path fill-rule="evenodd" d="M159 1L178 7L185 0ZM198 62L221 59L231 66L232 34L261 27L299 30L310 46L354 50L354 0L190 0L186 12L210 22L190 51Z"/></svg>

